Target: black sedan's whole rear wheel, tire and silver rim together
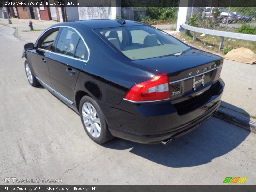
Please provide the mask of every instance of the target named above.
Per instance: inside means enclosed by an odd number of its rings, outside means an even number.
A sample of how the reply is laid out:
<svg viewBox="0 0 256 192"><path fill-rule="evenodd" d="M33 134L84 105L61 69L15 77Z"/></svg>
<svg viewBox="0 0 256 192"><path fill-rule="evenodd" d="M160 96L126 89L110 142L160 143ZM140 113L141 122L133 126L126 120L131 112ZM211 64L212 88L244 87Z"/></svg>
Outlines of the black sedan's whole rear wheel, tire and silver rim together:
<svg viewBox="0 0 256 192"><path fill-rule="evenodd" d="M100 106L90 96L82 97L79 112L84 130L94 142L103 144L113 139Z"/></svg>

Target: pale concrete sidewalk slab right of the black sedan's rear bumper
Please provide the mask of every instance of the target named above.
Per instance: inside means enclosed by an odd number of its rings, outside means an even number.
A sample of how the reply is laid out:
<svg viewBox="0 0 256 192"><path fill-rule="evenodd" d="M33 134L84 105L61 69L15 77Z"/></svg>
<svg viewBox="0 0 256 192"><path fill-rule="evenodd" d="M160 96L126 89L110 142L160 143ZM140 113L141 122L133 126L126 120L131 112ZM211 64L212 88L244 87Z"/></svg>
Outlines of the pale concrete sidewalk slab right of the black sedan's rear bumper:
<svg viewBox="0 0 256 192"><path fill-rule="evenodd" d="M256 122L256 65L224 59L220 108Z"/></svg>

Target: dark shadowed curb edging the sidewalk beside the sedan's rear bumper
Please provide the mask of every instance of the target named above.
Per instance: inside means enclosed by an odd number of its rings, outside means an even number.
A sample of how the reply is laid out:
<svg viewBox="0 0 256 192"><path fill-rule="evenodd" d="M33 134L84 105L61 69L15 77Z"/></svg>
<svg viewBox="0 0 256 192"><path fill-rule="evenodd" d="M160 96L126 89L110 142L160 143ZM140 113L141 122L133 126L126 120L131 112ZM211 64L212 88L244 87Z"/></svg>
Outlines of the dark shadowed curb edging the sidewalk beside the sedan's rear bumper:
<svg viewBox="0 0 256 192"><path fill-rule="evenodd" d="M244 117L237 116L221 109L218 109L213 116L256 134L256 123L249 119L245 119Z"/></svg>

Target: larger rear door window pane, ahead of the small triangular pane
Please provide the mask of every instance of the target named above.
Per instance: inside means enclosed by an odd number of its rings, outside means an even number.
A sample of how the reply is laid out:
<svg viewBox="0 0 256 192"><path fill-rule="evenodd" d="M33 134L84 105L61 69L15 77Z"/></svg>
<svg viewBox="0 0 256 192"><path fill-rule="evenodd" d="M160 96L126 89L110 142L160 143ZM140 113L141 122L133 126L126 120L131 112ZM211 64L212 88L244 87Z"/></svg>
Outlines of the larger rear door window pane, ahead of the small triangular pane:
<svg viewBox="0 0 256 192"><path fill-rule="evenodd" d="M79 39L80 36L75 30L71 28L63 28L55 52L73 57Z"/></svg>

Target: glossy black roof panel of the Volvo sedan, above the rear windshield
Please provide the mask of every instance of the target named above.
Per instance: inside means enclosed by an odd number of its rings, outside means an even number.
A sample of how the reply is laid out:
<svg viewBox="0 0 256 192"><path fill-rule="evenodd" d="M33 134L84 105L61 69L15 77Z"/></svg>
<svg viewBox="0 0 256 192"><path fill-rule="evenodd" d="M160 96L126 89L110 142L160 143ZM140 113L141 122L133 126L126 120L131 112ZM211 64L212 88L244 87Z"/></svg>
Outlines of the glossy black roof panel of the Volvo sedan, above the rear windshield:
<svg viewBox="0 0 256 192"><path fill-rule="evenodd" d="M115 20L112 20L112 19L80 20L80 21L75 21L75 23L80 23L80 24L87 26L91 29L145 25L143 23L136 22L136 21L130 21L130 20L125 20L125 24L122 25L119 22L117 22L117 19L115 19Z"/></svg>

